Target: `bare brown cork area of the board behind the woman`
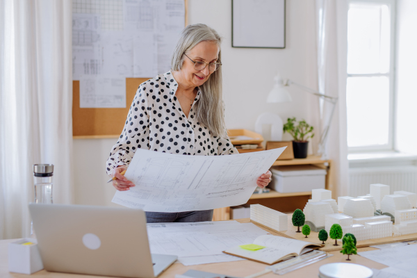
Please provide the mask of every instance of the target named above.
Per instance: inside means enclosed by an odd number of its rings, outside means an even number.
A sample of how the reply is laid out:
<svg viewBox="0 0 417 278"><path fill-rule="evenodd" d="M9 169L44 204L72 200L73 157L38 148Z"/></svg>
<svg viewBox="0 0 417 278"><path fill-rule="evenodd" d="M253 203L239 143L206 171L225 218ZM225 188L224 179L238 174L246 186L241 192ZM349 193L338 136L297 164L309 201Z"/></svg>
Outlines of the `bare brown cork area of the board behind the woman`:
<svg viewBox="0 0 417 278"><path fill-rule="evenodd" d="M72 81L72 135L74 138L118 138L136 90L145 78L126 78L126 108L80 108L80 81Z"/></svg>

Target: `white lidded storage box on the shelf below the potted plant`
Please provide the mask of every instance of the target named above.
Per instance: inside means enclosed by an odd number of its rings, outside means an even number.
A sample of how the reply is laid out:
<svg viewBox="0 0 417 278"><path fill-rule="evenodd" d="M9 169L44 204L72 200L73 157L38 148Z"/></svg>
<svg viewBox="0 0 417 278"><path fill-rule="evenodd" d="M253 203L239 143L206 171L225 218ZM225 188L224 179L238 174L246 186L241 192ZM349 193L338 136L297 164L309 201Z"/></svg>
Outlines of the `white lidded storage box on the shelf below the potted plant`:
<svg viewBox="0 0 417 278"><path fill-rule="evenodd" d="M270 188L279 193L293 193L325 188L327 171L313 165L271 167Z"/></svg>

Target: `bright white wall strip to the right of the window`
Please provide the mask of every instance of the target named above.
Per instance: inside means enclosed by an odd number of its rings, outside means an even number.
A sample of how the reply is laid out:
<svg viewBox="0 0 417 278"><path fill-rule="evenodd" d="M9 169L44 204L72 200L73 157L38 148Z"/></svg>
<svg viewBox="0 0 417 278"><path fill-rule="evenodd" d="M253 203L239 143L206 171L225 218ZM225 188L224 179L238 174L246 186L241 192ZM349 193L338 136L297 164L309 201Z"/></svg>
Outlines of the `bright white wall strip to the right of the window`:
<svg viewBox="0 0 417 278"><path fill-rule="evenodd" d="M396 149L417 154L417 1L397 2Z"/></svg>

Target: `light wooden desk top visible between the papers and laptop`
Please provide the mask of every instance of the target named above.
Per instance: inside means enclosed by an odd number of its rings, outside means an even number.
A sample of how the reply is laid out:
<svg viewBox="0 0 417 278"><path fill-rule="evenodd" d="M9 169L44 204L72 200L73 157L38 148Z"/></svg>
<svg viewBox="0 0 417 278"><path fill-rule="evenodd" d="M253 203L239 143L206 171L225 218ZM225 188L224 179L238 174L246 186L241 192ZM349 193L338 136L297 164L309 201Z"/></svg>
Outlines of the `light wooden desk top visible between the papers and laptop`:
<svg viewBox="0 0 417 278"><path fill-rule="evenodd" d="M240 219L238 222L248 222L248 219ZM270 232L271 234L277 234L274 231L263 228L266 231ZM10 273L8 272L8 258L7 258L7 244L13 242L13 240L0 240L0 277L2 278L28 278L28 277L99 277L99 276L92 276L92 275L73 275L73 274L66 274L66 273L58 273L58 272L47 272L46 270L41 270L39 272L34 273L31 276L22 275L17 273ZM370 251L375 250L372 247L363 247L358 248L358 253L363 251ZM347 255L342 255L338 251L329 252L334 256L331 256L327 259L322 261L318 261L317 263L313 263L312 265L307 265L304 268L300 268L298 270L294 270L293 272L289 272L286 275L275 275L273 273L268 273L268 275L263 275L261 278L279 278L279 277L318 277L318 268L320 265L324 265L326 263L347 263ZM360 265L365 265L368 268L377 268L382 269L386 268L386 265L381 263L377 263L375 261L371 261L369 259L363 258L359 255L352 255L350 256L349 263L358 263ZM252 275L256 272L261 272L265 269L265 264L263 263L256 263L254 261L233 261L229 263L211 263L206 265L191 265L191 266L184 266L181 263L174 263L168 268L163 274L160 276L161 278L167 277L174 277L176 274L183 274L187 270L195 269L195 270L202 270L207 272L217 272L222 273L224 275L233 275L237 277L245 277L247 275Z"/></svg>

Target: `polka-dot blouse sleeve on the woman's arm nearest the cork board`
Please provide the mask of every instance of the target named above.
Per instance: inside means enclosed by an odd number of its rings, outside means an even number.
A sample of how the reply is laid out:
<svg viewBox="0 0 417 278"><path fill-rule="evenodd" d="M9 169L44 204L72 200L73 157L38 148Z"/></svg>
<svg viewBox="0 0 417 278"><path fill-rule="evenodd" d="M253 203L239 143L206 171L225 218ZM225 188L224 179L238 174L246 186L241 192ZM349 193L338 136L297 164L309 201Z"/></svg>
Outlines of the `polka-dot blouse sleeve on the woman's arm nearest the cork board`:
<svg viewBox="0 0 417 278"><path fill-rule="evenodd" d="M106 172L110 176L115 167L127 166L137 148L149 149L149 106L147 94L141 84L136 91L124 128L119 140L112 147L106 162Z"/></svg>

